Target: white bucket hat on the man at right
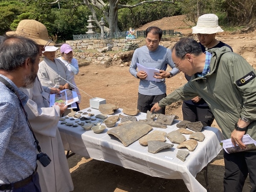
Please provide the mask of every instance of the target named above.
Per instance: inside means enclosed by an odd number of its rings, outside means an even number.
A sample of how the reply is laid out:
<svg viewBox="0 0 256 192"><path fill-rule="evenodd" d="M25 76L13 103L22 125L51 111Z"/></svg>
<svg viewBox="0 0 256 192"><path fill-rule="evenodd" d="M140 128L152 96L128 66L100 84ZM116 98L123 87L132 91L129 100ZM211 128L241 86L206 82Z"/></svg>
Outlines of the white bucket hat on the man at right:
<svg viewBox="0 0 256 192"><path fill-rule="evenodd" d="M195 34L214 34L217 32L224 31L218 26L218 16L214 14L205 14L198 17L196 26L192 27L192 33Z"/></svg>

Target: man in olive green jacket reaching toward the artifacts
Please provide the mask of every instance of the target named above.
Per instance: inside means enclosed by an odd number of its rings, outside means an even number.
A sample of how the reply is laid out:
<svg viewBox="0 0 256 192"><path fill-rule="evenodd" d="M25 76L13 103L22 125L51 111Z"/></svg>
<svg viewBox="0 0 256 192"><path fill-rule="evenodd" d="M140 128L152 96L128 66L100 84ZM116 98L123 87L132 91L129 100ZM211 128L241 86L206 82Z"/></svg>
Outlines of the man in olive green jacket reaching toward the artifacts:
<svg viewBox="0 0 256 192"><path fill-rule="evenodd" d="M228 47L203 53L192 38L183 38L172 48L177 68L192 76L183 87L160 100L151 112L180 100L201 96L211 108L226 139L245 148L243 135L256 140L256 71ZM251 192L256 191L256 151L227 154L224 151L224 191L242 191L249 173Z"/></svg>

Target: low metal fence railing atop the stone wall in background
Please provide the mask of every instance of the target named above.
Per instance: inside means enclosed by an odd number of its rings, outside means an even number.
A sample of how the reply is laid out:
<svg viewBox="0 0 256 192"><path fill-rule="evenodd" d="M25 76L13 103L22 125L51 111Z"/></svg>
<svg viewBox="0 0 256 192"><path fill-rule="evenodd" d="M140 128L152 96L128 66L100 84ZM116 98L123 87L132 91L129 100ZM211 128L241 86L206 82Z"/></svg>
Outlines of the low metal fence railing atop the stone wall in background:
<svg viewBox="0 0 256 192"><path fill-rule="evenodd" d="M174 32L173 29L163 30L163 36L173 36L179 34L182 36L181 32ZM73 35L73 40L81 40L81 39L118 39L118 38L126 38L127 32L114 32L114 33L94 33L87 35ZM136 31L136 38L144 37L145 31Z"/></svg>

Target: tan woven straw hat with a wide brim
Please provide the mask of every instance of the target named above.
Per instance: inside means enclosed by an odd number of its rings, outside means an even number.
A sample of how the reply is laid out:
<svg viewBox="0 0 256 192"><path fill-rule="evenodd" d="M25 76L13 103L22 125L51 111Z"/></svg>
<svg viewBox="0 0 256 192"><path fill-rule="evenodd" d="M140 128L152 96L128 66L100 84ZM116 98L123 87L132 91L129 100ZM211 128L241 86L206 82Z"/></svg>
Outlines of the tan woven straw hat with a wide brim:
<svg viewBox="0 0 256 192"><path fill-rule="evenodd" d="M20 35L35 41L38 45L55 45L55 43L49 39L46 26L36 20L21 20L16 31L6 32L6 35Z"/></svg>

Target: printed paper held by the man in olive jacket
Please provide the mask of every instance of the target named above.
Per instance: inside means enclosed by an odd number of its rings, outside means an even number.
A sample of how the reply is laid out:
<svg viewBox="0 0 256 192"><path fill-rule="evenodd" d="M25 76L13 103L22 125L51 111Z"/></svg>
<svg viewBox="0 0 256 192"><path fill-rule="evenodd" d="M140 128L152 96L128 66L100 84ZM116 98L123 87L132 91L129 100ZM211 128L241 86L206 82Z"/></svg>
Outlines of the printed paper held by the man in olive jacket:
<svg viewBox="0 0 256 192"><path fill-rule="evenodd" d="M249 134L243 136L242 142L246 146L245 149L241 149L237 144L236 146L234 146L233 143L231 142L231 139L221 141L221 145L227 153L256 150L256 141L253 140Z"/></svg>

